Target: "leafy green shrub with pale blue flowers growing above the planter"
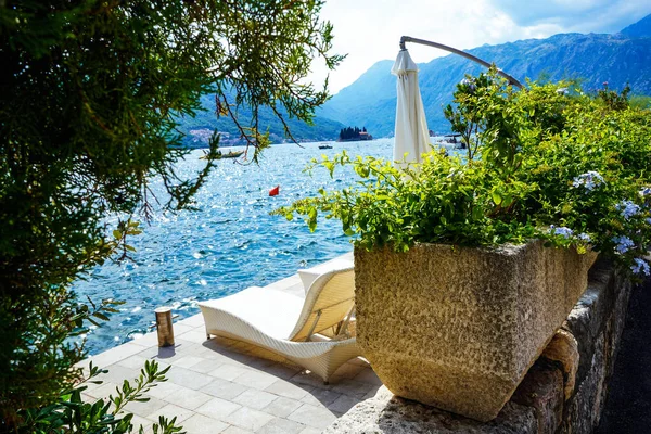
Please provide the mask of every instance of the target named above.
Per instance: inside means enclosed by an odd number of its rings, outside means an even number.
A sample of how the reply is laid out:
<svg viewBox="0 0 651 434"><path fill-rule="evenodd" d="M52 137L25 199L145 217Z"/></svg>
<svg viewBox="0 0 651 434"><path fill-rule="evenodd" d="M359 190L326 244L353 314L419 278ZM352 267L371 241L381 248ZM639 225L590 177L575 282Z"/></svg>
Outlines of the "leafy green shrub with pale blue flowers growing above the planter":
<svg viewBox="0 0 651 434"><path fill-rule="evenodd" d="M567 82L516 91L495 71L468 77L445 110L465 151L433 150L405 169L345 152L312 161L309 170L331 174L352 165L359 180L276 213L304 215L315 230L322 212L367 250L544 239L649 275L651 112L629 107L627 93L587 95Z"/></svg>

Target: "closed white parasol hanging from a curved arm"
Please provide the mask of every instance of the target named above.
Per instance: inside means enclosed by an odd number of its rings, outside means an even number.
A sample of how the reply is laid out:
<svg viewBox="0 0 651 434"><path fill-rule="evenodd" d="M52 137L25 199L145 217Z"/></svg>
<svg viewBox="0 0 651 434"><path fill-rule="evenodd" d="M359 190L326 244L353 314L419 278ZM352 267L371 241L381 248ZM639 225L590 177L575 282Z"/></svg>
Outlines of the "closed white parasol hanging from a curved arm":
<svg viewBox="0 0 651 434"><path fill-rule="evenodd" d="M403 162L420 163L421 155L430 152L432 148L418 86L418 66L411 60L409 51L400 50L391 73L398 77L394 162L398 162L398 166L404 166Z"/></svg>

